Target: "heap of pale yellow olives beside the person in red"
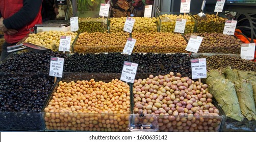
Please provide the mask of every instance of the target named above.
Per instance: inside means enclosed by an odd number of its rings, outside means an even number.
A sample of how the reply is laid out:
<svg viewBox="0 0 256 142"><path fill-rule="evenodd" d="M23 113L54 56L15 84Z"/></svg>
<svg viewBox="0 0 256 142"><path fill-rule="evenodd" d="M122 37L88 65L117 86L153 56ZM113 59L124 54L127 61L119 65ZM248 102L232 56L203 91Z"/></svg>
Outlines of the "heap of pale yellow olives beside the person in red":
<svg viewBox="0 0 256 142"><path fill-rule="evenodd" d="M25 43L32 43L39 46L44 46L53 51L59 51L61 36L71 36L71 44L78 35L77 32L72 31L43 31L38 33L29 34L25 39ZM70 48L71 49L71 48Z"/></svg>

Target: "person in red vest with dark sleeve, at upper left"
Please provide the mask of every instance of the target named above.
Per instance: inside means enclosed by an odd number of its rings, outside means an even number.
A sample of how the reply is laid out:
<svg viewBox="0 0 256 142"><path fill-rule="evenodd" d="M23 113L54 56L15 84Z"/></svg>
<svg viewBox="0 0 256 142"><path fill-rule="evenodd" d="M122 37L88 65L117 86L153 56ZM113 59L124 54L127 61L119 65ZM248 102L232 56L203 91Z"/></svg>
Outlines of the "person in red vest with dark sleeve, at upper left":
<svg viewBox="0 0 256 142"><path fill-rule="evenodd" d="M41 6L42 0L0 1L0 30L5 37L1 61L9 55L8 46L17 44L30 33L35 24L42 23Z"/></svg>

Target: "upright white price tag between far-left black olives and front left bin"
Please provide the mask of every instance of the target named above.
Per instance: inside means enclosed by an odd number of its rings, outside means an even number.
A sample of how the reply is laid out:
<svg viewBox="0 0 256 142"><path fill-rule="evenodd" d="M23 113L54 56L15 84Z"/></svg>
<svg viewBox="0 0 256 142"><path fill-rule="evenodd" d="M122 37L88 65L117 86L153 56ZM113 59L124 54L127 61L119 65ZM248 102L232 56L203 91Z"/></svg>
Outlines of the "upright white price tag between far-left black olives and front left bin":
<svg viewBox="0 0 256 142"><path fill-rule="evenodd" d="M50 57L50 76L62 78L64 58Z"/></svg>

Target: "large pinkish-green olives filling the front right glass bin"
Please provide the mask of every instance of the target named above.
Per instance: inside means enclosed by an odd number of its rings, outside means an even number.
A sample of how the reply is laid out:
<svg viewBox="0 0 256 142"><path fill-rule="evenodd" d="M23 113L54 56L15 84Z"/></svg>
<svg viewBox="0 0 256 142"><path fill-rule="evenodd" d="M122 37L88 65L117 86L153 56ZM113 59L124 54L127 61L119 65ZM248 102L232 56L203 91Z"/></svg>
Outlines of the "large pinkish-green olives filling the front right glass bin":
<svg viewBox="0 0 256 142"><path fill-rule="evenodd" d="M218 131L222 117L212 103L208 85L180 73L174 75L135 80L134 113L156 115L160 131Z"/></svg>

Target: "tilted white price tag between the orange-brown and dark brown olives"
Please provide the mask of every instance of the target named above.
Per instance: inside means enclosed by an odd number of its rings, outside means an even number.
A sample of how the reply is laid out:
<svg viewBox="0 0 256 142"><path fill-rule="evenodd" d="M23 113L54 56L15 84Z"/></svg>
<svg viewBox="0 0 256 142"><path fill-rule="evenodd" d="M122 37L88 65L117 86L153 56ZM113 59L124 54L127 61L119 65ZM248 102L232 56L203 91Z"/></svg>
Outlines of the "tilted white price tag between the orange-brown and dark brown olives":
<svg viewBox="0 0 256 142"><path fill-rule="evenodd" d="M190 39L189 39L189 43L186 47L186 50L189 52L194 52L197 53L201 42L202 42L202 37L196 36L196 35L191 35Z"/></svg>

